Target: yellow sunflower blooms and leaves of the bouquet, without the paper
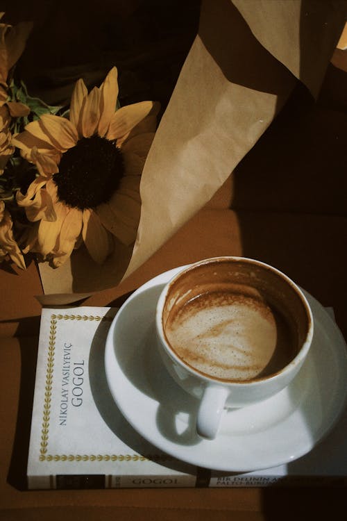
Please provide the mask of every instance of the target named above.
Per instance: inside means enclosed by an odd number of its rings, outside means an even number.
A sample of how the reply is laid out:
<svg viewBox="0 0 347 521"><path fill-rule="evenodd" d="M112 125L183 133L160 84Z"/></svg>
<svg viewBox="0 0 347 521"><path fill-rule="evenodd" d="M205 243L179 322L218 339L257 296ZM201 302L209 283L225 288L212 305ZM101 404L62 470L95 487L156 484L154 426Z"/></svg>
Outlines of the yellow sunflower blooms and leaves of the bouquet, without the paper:
<svg viewBox="0 0 347 521"><path fill-rule="evenodd" d="M33 252L59 267L84 243L102 264L114 238L135 241L159 104L120 107L112 67L89 93L78 80L69 107L48 106L11 77L27 37L13 32L1 24L0 261L24 269Z"/></svg>

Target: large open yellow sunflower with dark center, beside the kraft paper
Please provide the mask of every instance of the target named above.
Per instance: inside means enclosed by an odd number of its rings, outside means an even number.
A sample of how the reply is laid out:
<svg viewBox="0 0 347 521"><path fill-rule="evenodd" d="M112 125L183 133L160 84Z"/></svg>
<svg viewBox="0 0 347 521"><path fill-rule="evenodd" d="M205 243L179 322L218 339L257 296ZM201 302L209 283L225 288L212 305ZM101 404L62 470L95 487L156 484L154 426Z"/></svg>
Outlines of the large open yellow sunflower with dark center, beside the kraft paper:
<svg viewBox="0 0 347 521"><path fill-rule="evenodd" d="M53 267L85 243L103 263L113 235L135 241L141 200L139 181L156 128L152 101L117 108L117 68L88 93L82 79L71 96L69 119L45 114L12 139L38 175L17 204L33 222L24 251Z"/></svg>

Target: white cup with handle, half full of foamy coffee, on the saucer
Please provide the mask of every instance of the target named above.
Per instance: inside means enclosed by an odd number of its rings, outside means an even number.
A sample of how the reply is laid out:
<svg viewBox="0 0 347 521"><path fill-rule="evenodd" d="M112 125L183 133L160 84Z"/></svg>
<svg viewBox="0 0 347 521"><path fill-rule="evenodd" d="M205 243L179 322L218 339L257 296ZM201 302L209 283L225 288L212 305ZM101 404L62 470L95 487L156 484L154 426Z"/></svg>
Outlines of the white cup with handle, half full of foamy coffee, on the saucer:
<svg viewBox="0 0 347 521"><path fill-rule="evenodd" d="M300 370L313 336L310 305L275 267L215 257L183 268L156 308L164 365L200 400L199 436L217 436L224 408L280 392Z"/></svg>

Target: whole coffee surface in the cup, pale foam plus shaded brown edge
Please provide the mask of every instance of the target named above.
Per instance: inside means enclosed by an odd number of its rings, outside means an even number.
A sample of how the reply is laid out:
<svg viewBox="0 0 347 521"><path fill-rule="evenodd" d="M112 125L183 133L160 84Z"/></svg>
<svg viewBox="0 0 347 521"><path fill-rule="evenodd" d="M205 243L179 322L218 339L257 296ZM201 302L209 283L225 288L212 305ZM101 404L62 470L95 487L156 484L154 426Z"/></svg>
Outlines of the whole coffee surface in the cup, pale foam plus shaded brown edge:
<svg viewBox="0 0 347 521"><path fill-rule="evenodd" d="M176 355L208 377L250 381L281 370L296 355L289 322L255 288L209 284L171 307L165 336Z"/></svg>

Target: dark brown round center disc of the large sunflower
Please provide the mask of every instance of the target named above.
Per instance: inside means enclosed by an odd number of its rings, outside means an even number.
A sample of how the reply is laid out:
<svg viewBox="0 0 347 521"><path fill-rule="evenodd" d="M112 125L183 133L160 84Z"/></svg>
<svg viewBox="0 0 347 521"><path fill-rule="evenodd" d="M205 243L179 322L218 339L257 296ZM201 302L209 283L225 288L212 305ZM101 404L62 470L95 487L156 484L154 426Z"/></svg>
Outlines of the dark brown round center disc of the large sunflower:
<svg viewBox="0 0 347 521"><path fill-rule="evenodd" d="M60 201L84 210L108 201L123 174L123 156L115 142L93 135L62 154L53 181Z"/></svg>

